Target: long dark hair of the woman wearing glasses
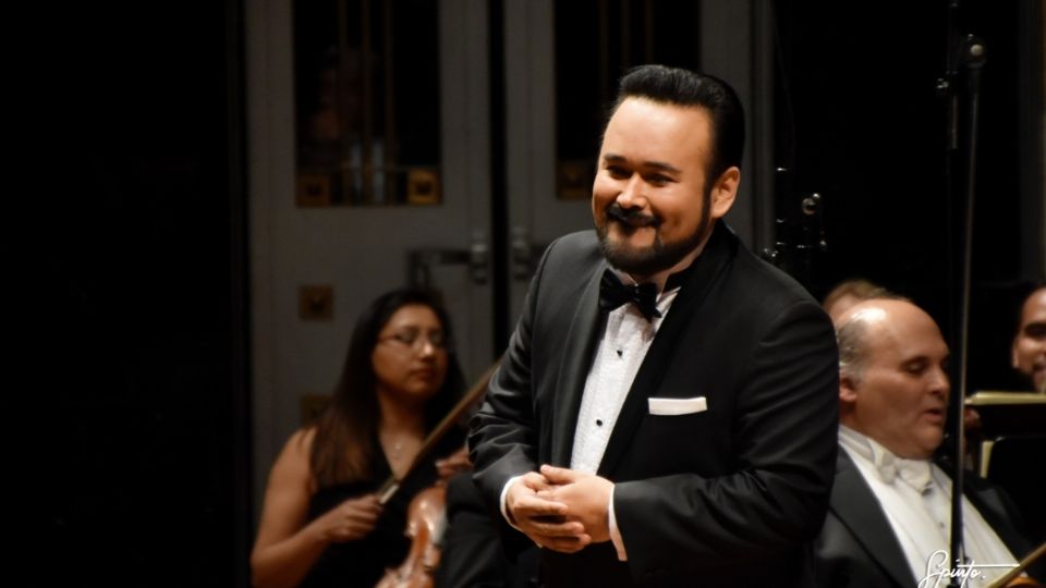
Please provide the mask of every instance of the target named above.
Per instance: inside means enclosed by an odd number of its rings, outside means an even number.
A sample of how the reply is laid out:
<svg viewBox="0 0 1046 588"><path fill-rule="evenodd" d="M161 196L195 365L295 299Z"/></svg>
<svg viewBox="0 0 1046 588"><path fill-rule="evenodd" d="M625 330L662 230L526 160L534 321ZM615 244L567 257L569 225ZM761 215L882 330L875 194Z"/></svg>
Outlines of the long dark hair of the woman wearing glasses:
<svg viewBox="0 0 1046 588"><path fill-rule="evenodd" d="M374 439L380 422L374 364L370 355L378 333L400 308L427 306L436 313L448 342L453 341L450 318L439 297L428 291L403 289L382 294L361 315L349 340L349 352L330 405L316 422L309 466L318 488L369 479ZM425 428L431 430L464 391L464 377L448 343L447 377L425 404Z"/></svg>

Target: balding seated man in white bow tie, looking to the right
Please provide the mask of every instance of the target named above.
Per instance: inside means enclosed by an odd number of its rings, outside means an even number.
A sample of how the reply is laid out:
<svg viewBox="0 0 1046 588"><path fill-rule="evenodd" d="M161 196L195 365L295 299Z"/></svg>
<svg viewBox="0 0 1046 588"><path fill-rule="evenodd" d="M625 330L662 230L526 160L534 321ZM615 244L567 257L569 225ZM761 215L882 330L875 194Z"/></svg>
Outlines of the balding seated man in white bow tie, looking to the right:
<svg viewBox="0 0 1046 588"><path fill-rule="evenodd" d="M948 346L907 301L864 301L835 321L839 452L830 507L815 542L815 580L838 587L948 585L951 479L931 457L944 439ZM968 475L963 586L986 586L1031 546L1015 509Z"/></svg>

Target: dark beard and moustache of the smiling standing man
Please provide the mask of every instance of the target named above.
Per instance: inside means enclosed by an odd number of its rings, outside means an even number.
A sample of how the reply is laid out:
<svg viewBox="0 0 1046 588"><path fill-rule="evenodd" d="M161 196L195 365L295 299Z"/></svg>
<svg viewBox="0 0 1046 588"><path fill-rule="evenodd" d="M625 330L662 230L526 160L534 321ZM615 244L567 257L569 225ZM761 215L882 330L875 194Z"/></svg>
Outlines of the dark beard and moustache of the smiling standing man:
<svg viewBox="0 0 1046 588"><path fill-rule="evenodd" d="M603 223L596 225L596 236L603 256L615 268L633 278L648 278L679 264L688 254L697 248L711 232L711 191L703 195L703 208L697 221L697 230L679 241L661 238L662 220L657 216L646 216L635 210L624 210L612 203L604 211ZM654 244L649 247L633 247L624 241L612 241L609 236L610 223L617 223L621 232L629 234L644 226L653 228Z"/></svg>

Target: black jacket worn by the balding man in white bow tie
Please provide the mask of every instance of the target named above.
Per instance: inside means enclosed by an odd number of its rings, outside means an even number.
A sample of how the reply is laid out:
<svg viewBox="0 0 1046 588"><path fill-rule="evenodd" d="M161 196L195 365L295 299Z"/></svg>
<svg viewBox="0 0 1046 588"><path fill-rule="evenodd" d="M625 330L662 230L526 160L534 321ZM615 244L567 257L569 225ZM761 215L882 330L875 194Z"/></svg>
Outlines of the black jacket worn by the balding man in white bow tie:
<svg viewBox="0 0 1046 588"><path fill-rule="evenodd" d="M972 473L963 476L963 494L1010 552L1018 560L1027 555L1032 546L1014 526L1020 518L1009 498ZM878 499L842 450L828 516L814 548L814 576L804 583L811 587L912 588L925 573L910 568ZM1036 578L1041 573L1039 568L1032 569Z"/></svg>

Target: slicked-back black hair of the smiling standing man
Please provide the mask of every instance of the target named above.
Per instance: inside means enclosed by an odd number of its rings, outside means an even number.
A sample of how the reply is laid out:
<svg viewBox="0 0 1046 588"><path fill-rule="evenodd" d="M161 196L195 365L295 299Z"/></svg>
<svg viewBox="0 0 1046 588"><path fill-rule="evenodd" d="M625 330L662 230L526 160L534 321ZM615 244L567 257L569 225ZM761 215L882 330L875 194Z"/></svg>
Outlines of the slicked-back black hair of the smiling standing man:
<svg viewBox="0 0 1046 588"><path fill-rule="evenodd" d="M711 118L711 160L708 182L730 167L741 168L744 156L744 108L738 94L718 77L666 65L640 65L625 72L618 84L613 111L627 98L646 98L655 102L697 107Z"/></svg>

